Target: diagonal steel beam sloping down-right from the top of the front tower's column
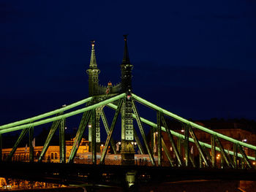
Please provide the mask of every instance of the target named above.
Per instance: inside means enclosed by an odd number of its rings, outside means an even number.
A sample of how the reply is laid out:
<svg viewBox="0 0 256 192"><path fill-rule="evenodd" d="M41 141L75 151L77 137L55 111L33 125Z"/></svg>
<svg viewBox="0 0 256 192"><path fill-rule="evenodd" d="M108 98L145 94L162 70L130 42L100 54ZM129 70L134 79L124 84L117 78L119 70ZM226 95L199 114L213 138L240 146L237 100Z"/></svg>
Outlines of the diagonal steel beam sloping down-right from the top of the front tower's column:
<svg viewBox="0 0 256 192"><path fill-rule="evenodd" d="M144 128L143 128L143 126L142 126L142 123L141 123L141 121L140 121L140 115L139 115L138 109L137 109L137 107L136 107L134 101L132 101L132 110L133 110L133 112L134 112L134 114L135 114L135 118L136 118L136 121L137 121L137 124L138 124L138 128L140 129L140 134L141 134L141 136L142 136L142 138L143 138L143 142L144 142L144 144L145 144L145 146L146 146L146 150L147 150L147 152L148 152L148 156L149 156L149 158L150 158L151 164L152 164L153 166L155 166L156 163L155 163L155 161L154 161L154 156L153 156L152 150L151 150L150 147L148 146L148 142L147 142L147 139L146 139L146 134L145 134ZM154 143L154 142L153 142L153 143ZM154 144L153 144L153 145L154 145Z"/></svg>

